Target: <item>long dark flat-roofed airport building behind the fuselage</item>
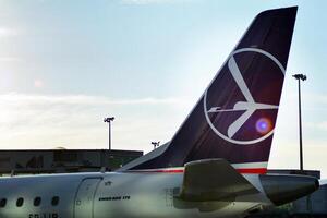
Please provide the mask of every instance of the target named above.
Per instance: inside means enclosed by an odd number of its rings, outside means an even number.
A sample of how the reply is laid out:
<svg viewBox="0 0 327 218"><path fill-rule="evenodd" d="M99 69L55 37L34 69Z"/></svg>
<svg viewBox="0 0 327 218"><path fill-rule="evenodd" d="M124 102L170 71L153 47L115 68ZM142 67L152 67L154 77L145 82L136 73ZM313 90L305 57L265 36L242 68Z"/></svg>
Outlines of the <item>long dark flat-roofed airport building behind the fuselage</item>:
<svg viewBox="0 0 327 218"><path fill-rule="evenodd" d="M0 174L113 171L141 156L143 152L113 149L0 150Z"/></svg>

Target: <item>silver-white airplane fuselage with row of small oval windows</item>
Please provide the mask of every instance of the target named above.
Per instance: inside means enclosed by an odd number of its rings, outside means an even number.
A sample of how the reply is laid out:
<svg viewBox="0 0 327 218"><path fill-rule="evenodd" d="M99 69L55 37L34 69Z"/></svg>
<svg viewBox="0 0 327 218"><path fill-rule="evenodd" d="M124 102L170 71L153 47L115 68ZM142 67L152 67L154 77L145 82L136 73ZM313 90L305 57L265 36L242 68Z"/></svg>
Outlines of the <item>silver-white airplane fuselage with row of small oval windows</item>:
<svg viewBox="0 0 327 218"><path fill-rule="evenodd" d="M261 191L259 194L232 202L193 203L174 197L182 185L183 173L99 172L3 178L0 179L0 217L239 217L253 207L271 204L258 177L247 174L245 178ZM20 206L19 198L23 198Z"/></svg>

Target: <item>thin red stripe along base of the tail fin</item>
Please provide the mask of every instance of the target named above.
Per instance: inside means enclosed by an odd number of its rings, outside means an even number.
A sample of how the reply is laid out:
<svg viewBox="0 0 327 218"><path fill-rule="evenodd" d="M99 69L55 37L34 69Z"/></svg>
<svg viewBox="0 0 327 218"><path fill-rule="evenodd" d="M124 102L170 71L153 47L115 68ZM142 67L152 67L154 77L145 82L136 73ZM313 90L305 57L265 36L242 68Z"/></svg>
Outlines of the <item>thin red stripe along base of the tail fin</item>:
<svg viewBox="0 0 327 218"><path fill-rule="evenodd" d="M267 168L239 168L235 169L241 174L266 174ZM129 170L137 173L183 173L183 169L156 169L156 170Z"/></svg>

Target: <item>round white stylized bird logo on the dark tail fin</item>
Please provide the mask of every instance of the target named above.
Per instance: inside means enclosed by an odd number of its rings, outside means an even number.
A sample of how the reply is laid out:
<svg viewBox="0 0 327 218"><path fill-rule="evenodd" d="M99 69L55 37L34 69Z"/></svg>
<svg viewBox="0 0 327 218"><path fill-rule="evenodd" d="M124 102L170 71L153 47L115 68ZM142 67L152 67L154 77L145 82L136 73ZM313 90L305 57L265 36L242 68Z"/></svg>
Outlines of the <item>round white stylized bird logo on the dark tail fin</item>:
<svg viewBox="0 0 327 218"><path fill-rule="evenodd" d="M238 145L272 135L284 72L265 50L233 51L204 95L204 113L215 134Z"/></svg>

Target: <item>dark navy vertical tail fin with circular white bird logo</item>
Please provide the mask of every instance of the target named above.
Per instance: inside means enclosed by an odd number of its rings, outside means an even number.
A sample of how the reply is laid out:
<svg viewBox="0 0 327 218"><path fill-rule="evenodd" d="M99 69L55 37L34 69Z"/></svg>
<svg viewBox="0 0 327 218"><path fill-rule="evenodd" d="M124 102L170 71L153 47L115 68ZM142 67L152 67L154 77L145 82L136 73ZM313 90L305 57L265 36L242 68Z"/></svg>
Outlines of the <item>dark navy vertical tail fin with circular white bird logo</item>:
<svg viewBox="0 0 327 218"><path fill-rule="evenodd" d="M259 13L165 152L132 170L223 158L241 171L267 168L298 7Z"/></svg>

